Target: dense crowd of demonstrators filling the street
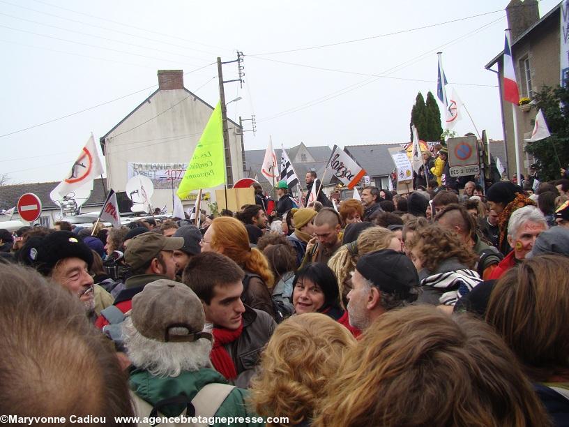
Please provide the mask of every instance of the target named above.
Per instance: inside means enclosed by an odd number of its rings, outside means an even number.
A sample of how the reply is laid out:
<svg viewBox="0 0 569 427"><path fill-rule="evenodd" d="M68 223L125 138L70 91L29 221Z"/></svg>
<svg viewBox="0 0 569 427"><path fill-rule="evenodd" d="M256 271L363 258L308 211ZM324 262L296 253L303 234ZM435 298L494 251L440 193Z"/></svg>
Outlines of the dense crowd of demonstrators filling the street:
<svg viewBox="0 0 569 427"><path fill-rule="evenodd" d="M200 227L0 230L1 414L568 426L569 180L444 186L445 156L337 210L280 181Z"/></svg>

